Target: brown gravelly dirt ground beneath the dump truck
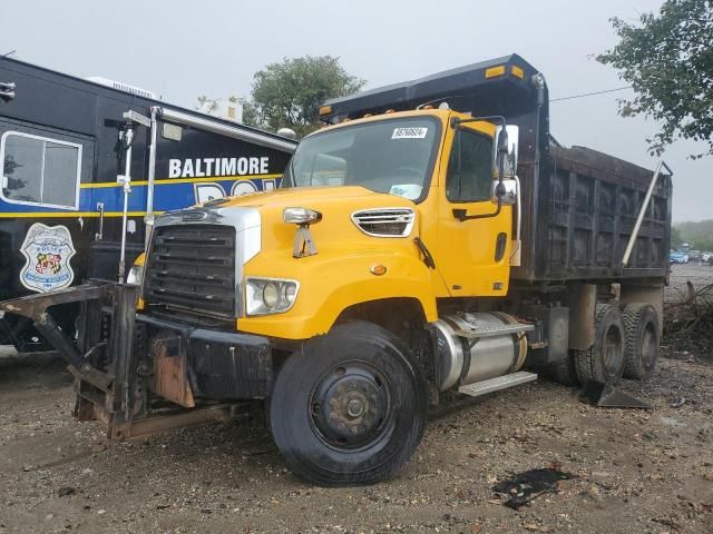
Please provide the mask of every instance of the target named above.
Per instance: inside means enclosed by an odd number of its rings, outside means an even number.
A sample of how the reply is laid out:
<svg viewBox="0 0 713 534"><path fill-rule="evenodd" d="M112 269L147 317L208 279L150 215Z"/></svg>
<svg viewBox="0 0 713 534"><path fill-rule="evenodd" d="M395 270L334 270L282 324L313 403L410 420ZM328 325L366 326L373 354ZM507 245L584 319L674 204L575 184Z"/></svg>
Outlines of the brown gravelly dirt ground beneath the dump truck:
<svg viewBox="0 0 713 534"><path fill-rule="evenodd" d="M713 281L713 268L674 267L674 283L687 278ZM256 421L107 442L98 423L70 417L59 360L6 350L0 534L711 533L711 347L666 353L651 383L623 383L653 411L594 408L540 382L433 418L391 482L323 490L285 469ZM519 511L491 491L509 473L551 465L576 478Z"/></svg>

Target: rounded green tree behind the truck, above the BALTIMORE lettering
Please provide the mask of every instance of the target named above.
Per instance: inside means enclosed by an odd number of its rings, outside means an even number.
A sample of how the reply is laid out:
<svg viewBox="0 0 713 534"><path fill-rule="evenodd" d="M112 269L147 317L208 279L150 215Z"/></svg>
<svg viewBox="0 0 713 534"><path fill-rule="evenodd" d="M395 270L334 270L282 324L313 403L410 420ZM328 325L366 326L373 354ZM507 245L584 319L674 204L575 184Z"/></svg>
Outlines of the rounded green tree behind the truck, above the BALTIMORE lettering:
<svg viewBox="0 0 713 534"><path fill-rule="evenodd" d="M352 95L364 83L332 56L285 58L253 77L256 125L273 131L292 128L305 136L320 127L319 110L325 100Z"/></svg>

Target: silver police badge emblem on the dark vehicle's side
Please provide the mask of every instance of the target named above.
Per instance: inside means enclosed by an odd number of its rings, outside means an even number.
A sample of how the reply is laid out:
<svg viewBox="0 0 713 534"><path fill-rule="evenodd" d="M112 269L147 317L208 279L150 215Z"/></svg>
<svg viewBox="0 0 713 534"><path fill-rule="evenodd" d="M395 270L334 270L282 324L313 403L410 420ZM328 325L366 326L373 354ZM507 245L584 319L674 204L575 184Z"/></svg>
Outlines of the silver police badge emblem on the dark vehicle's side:
<svg viewBox="0 0 713 534"><path fill-rule="evenodd" d="M50 293L69 286L75 279L69 259L76 250L66 226L49 227L35 222L20 251L26 259L20 281L28 289Z"/></svg>

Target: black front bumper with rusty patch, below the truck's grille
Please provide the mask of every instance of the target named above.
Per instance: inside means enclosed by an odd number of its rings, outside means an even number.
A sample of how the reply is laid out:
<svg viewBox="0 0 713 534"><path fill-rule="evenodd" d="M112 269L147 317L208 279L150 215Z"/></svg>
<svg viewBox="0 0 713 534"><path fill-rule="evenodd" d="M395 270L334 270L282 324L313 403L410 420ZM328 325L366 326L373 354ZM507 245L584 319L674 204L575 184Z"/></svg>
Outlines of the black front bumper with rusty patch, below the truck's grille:
<svg viewBox="0 0 713 534"><path fill-rule="evenodd" d="M145 327L156 393L186 406L191 405L186 397L224 400L270 395L274 376L266 337L198 328L143 314L137 314L136 320ZM178 400L172 398L173 392L178 392Z"/></svg>

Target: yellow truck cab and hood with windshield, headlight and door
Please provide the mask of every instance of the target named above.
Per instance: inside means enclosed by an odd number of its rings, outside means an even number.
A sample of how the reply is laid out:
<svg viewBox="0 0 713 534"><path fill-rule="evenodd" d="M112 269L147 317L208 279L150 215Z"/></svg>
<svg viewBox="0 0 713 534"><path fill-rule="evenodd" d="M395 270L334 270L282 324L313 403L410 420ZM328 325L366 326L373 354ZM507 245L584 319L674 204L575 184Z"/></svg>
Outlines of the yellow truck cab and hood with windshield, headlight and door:
<svg viewBox="0 0 713 534"><path fill-rule="evenodd" d="M496 128L451 127L462 119L421 110L324 128L301 142L280 190L165 216L156 239L198 212L240 217L250 251L238 255L245 295L235 327L264 336L325 334L362 303L410 299L434 322L440 298L505 296L512 206L494 192ZM164 270L147 270L149 304L173 298ZM221 315L214 289L192 296L193 313Z"/></svg>

